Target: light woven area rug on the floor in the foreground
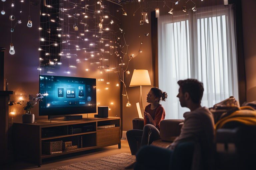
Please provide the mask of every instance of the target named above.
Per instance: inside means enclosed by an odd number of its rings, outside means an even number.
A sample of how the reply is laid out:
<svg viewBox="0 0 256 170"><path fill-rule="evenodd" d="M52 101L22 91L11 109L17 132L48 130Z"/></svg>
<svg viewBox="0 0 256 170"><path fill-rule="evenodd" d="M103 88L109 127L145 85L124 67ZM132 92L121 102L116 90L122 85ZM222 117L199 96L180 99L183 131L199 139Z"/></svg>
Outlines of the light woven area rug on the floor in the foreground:
<svg viewBox="0 0 256 170"><path fill-rule="evenodd" d="M51 170L121 170L134 162L135 159L135 155L120 153L90 161L73 163Z"/></svg>

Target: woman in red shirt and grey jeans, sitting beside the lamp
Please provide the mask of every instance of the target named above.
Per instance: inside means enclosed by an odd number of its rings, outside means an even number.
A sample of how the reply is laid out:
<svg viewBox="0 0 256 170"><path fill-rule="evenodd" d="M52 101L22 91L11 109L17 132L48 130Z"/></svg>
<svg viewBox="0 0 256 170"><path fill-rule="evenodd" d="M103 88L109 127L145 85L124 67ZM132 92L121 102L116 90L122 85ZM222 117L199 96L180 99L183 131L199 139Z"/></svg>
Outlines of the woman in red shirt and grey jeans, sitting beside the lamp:
<svg viewBox="0 0 256 170"><path fill-rule="evenodd" d="M167 93L157 87L151 88L148 92L147 102L150 104L144 111L143 130L133 129L126 132L132 155L135 155L139 149L138 142L141 142L141 146L143 146L160 138L160 122L165 118L165 110L159 102L166 99Z"/></svg>

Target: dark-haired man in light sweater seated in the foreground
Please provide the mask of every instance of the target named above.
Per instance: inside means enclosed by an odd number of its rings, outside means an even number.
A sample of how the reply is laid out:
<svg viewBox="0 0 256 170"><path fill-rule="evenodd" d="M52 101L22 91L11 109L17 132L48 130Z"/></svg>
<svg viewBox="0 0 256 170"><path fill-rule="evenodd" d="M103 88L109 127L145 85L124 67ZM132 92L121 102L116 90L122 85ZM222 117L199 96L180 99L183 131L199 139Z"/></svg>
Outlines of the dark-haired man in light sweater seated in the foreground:
<svg viewBox="0 0 256 170"><path fill-rule="evenodd" d="M179 98L180 105L181 107L190 109L190 112L186 112L183 115L185 120L180 135L168 149L156 146L145 146L141 148L136 154L137 162L135 163L134 169L170 169L172 167L173 150L182 142L198 142L202 148L201 150L204 148L213 148L213 115L206 107L201 106L204 92L203 83L196 79L186 79L179 80L178 84L180 88L177 97ZM194 152L196 153L196 148ZM208 152L207 154L211 155L212 153ZM207 157L207 155L204 156Z"/></svg>

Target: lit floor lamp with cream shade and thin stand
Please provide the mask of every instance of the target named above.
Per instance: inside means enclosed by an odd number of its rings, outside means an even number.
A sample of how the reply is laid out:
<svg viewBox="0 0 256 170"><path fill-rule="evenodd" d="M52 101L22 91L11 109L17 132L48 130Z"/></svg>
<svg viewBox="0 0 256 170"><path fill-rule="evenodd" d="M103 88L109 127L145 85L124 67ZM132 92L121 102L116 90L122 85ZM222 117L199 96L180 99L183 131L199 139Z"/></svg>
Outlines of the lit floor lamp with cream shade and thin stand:
<svg viewBox="0 0 256 170"><path fill-rule="evenodd" d="M151 86L148 70L133 70L132 79L129 87L140 86L140 107L141 113L144 112L141 86Z"/></svg>

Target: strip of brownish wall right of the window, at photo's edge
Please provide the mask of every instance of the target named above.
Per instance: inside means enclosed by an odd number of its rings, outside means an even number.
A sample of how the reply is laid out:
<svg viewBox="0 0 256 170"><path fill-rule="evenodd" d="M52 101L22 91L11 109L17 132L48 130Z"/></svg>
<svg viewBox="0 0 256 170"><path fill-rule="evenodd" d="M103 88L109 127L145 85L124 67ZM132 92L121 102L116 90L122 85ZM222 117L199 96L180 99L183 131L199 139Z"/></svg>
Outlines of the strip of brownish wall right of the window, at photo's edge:
<svg viewBox="0 0 256 170"><path fill-rule="evenodd" d="M242 0L245 73L247 101L256 100L256 14L255 0Z"/></svg>

